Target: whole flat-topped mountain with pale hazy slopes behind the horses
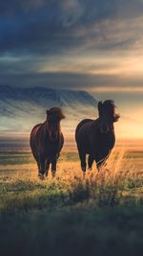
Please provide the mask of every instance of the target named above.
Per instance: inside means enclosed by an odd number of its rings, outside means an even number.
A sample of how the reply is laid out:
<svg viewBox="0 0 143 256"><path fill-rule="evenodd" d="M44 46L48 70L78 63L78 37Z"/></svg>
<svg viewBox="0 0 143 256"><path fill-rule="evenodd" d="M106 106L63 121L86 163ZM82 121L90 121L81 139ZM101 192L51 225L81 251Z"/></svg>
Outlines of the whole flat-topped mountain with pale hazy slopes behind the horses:
<svg viewBox="0 0 143 256"><path fill-rule="evenodd" d="M47 109L60 106L67 116L63 127L72 131L80 119L95 115L96 105L86 91L0 85L0 130L29 132L35 124L44 122Z"/></svg>

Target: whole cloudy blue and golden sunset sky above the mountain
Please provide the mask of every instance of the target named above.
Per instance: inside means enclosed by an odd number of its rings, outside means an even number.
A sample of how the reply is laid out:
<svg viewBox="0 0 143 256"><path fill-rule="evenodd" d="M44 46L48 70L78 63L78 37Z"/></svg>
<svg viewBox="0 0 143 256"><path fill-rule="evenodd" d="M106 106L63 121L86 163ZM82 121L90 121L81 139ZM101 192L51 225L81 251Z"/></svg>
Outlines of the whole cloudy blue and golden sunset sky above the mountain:
<svg viewBox="0 0 143 256"><path fill-rule="evenodd" d="M143 0L0 1L0 84L113 99L122 137L143 137Z"/></svg>

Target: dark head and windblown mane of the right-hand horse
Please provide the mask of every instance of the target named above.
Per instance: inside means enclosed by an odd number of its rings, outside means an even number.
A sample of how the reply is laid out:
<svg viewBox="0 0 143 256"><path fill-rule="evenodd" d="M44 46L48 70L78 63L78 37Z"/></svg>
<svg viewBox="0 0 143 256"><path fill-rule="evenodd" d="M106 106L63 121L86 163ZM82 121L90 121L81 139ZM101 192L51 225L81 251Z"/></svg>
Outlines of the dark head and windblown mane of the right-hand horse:
<svg viewBox="0 0 143 256"><path fill-rule="evenodd" d="M101 133L112 131L113 123L118 121L120 116L115 113L115 107L112 100L98 103L99 130Z"/></svg>

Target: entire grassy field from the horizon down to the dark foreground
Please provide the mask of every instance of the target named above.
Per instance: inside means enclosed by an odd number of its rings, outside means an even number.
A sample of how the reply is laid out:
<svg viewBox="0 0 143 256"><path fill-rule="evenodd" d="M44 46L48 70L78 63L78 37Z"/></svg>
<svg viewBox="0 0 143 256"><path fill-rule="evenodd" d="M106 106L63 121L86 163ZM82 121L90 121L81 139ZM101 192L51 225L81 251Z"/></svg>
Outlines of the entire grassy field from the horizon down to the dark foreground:
<svg viewBox="0 0 143 256"><path fill-rule="evenodd" d="M0 254L143 255L143 151L113 151L83 178L62 153L55 178L30 152L0 154Z"/></svg>

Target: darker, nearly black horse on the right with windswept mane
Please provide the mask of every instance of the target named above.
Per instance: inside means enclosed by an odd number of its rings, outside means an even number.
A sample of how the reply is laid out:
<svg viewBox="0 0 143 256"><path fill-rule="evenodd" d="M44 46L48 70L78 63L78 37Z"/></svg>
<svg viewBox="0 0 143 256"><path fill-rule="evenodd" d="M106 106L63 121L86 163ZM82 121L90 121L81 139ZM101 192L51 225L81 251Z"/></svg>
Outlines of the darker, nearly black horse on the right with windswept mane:
<svg viewBox="0 0 143 256"><path fill-rule="evenodd" d="M88 167L92 169L95 160L98 170L105 162L115 143L113 123L118 121L112 100L98 103L99 118L84 119L75 130L75 140L81 161L81 169L86 172L86 154L89 154Z"/></svg>

